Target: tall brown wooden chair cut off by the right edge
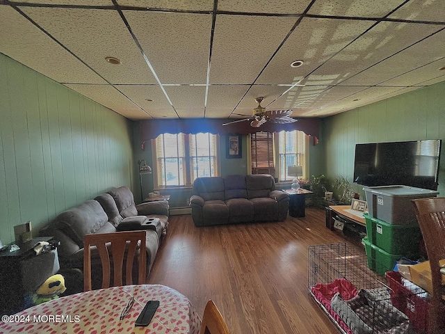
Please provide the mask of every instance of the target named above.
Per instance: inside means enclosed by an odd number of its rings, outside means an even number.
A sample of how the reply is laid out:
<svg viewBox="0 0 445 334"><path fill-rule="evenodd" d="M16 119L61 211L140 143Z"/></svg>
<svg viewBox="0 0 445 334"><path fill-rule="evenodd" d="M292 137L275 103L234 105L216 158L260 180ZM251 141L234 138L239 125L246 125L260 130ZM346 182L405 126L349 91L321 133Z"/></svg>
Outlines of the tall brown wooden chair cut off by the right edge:
<svg viewBox="0 0 445 334"><path fill-rule="evenodd" d="M444 333L444 328L439 329L440 318L444 316L440 311L444 308L444 305L441 306L442 294L445 294L439 260L445 259L445 198L419 198L412 200L412 203L431 268L432 299L428 333Z"/></svg>

